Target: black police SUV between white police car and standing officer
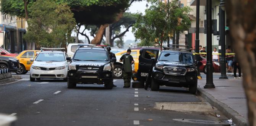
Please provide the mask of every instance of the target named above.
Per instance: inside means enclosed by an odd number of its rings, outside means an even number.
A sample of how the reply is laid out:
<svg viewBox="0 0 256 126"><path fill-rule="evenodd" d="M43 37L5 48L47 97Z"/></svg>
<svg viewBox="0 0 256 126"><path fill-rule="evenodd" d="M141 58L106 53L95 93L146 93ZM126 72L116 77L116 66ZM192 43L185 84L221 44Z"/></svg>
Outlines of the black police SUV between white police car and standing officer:
<svg viewBox="0 0 256 126"><path fill-rule="evenodd" d="M113 63L104 45L78 45L68 67L68 88L76 84L104 84L107 89L113 87Z"/></svg>

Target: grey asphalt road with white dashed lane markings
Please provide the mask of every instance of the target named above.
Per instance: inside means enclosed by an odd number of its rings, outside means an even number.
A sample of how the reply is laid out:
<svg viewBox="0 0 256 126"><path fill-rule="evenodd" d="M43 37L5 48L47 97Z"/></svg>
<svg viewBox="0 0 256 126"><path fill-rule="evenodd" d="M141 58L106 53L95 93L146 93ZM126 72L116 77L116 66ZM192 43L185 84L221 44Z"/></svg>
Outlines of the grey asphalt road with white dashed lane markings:
<svg viewBox="0 0 256 126"><path fill-rule="evenodd" d="M112 90L81 84L67 89L67 83L58 79L30 82L29 73L22 78L0 85L0 113L16 113L16 126L205 126L173 119L219 121L204 113L153 108L155 102L201 102L183 88L126 89L122 79L115 79L117 87Z"/></svg>

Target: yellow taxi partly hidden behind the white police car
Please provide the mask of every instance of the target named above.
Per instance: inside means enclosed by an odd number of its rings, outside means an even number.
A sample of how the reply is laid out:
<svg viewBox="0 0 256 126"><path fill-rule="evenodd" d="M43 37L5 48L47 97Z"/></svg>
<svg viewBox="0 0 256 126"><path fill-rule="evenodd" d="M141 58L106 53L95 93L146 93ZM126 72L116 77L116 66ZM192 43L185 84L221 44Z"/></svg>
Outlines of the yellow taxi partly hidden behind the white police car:
<svg viewBox="0 0 256 126"><path fill-rule="evenodd" d="M30 70L30 66L32 65L33 61L30 61L31 58L35 58L37 52L40 50L25 50L19 53L15 58L19 60L20 68L16 71L16 74L26 74Z"/></svg>

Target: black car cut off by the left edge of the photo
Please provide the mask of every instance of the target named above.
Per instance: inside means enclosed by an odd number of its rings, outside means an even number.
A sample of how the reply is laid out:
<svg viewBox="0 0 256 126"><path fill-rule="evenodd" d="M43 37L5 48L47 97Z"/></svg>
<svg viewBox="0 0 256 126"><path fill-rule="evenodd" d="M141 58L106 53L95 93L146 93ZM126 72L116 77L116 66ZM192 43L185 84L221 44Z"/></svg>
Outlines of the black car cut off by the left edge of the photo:
<svg viewBox="0 0 256 126"><path fill-rule="evenodd" d="M19 60L13 57L0 57L0 69L8 68L11 72L19 69Z"/></svg>

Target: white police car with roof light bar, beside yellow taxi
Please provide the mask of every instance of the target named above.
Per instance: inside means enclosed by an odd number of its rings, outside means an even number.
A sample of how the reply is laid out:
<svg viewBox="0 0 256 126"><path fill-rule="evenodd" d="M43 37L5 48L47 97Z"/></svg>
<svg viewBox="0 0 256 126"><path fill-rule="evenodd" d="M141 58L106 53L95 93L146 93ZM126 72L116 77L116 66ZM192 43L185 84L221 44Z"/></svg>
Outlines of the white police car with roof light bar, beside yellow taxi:
<svg viewBox="0 0 256 126"><path fill-rule="evenodd" d="M64 79L66 81L69 62L65 48L41 48L30 68L30 81L35 79Z"/></svg>

